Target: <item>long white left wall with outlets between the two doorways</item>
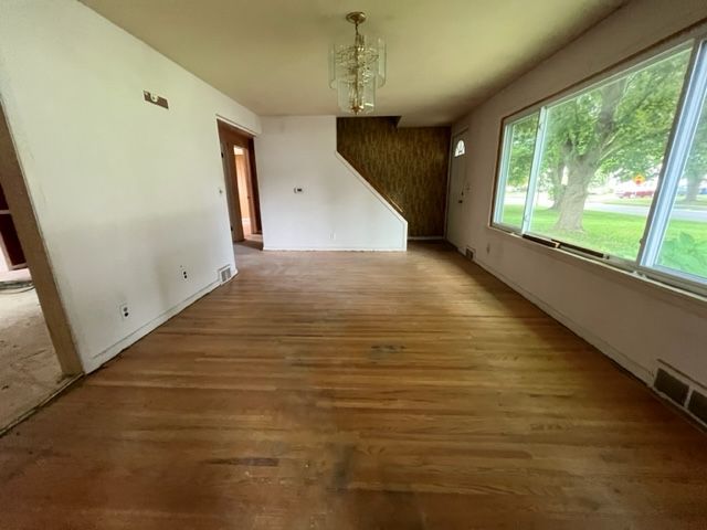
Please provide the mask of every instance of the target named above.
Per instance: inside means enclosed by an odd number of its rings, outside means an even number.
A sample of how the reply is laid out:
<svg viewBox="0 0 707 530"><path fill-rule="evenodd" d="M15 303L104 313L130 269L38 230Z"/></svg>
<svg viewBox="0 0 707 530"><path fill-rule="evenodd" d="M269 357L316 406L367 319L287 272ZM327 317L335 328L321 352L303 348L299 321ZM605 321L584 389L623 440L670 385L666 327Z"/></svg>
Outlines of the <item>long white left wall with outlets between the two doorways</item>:
<svg viewBox="0 0 707 530"><path fill-rule="evenodd" d="M0 96L89 371L233 266L217 115L258 118L75 0L0 2Z"/></svg>

